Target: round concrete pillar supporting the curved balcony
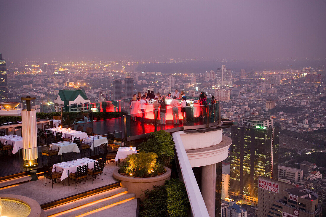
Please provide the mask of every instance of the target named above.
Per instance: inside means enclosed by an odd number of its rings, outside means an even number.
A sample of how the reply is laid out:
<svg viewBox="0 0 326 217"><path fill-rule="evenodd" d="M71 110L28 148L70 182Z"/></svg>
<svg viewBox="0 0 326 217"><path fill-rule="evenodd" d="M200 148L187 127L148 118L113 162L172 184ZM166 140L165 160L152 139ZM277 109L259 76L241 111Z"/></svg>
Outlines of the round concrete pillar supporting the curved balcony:
<svg viewBox="0 0 326 217"><path fill-rule="evenodd" d="M215 164L201 167L201 195L209 216L215 217Z"/></svg>

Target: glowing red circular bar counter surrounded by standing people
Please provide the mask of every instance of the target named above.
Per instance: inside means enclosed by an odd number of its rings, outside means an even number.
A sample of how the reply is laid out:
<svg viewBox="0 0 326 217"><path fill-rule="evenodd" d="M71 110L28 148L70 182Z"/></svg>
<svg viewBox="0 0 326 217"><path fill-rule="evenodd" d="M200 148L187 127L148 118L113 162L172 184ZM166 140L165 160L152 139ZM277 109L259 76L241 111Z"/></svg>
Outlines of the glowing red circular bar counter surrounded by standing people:
<svg viewBox="0 0 326 217"><path fill-rule="evenodd" d="M182 120L182 113L181 113L181 99L177 99L179 102L179 120ZM166 120L173 120L172 117L172 107L170 105L172 99L165 99L166 107L167 107L167 115L166 115ZM186 100L188 103L188 107L190 106L191 109L186 109L186 112L189 112L190 110L193 110L193 117L197 118L200 115L200 107L199 107L199 102L198 100L192 100L192 99L187 99ZM154 108L153 108L153 102L154 101L149 101L146 103L146 109L145 109L145 119L152 119L154 120ZM189 110L189 111L188 111ZM140 114L138 116L142 116L141 110L139 109Z"/></svg>

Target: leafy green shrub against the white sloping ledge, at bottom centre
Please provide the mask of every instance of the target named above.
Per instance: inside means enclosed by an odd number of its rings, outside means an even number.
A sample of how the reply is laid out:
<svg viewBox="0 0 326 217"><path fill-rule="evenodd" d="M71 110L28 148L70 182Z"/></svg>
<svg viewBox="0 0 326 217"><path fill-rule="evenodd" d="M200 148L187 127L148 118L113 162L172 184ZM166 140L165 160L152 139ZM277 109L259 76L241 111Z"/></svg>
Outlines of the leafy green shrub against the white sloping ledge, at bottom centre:
<svg viewBox="0 0 326 217"><path fill-rule="evenodd" d="M165 189L167 194L168 214L171 217L187 216L189 210L189 200L186 193L185 184L178 179L170 179L165 181Z"/></svg>

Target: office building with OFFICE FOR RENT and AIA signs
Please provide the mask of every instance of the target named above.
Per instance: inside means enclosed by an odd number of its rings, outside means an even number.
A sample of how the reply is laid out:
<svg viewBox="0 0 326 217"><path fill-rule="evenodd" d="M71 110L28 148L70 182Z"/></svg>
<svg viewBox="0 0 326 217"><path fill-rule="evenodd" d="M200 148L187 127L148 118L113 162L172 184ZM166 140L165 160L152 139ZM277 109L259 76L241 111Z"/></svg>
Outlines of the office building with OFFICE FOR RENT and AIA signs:
<svg viewBox="0 0 326 217"><path fill-rule="evenodd" d="M259 177L258 217L320 217L318 195L282 181Z"/></svg>

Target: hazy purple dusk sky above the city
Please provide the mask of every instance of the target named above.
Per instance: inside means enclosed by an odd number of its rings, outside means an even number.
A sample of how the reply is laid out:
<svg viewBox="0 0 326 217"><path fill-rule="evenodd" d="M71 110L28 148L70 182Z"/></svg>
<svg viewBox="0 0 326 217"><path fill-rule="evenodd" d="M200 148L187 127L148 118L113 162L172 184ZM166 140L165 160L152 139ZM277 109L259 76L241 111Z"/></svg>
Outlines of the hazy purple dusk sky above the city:
<svg viewBox="0 0 326 217"><path fill-rule="evenodd" d="M6 59L326 57L326 2L0 0Z"/></svg>

